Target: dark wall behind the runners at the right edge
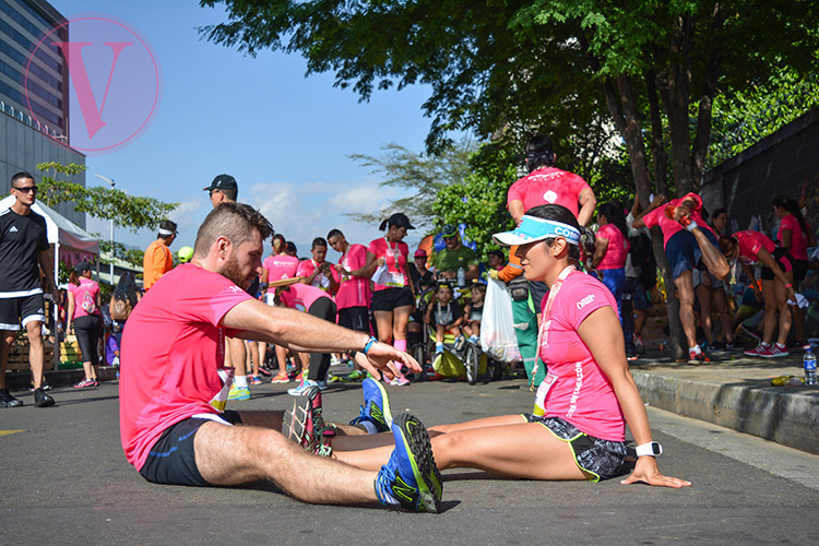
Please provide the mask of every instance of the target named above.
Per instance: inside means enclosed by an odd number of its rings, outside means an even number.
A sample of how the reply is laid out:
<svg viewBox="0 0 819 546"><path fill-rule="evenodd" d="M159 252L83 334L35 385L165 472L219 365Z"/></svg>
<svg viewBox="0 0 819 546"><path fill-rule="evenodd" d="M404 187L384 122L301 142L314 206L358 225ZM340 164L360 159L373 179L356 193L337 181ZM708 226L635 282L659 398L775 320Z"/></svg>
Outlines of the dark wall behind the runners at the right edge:
<svg viewBox="0 0 819 546"><path fill-rule="evenodd" d="M774 235L779 221L771 200L807 195L811 228L819 227L819 108L705 173L701 197L709 211L725 207L739 229L753 216L765 234ZM734 228L732 227L732 230ZM773 234L772 234L773 232Z"/></svg>

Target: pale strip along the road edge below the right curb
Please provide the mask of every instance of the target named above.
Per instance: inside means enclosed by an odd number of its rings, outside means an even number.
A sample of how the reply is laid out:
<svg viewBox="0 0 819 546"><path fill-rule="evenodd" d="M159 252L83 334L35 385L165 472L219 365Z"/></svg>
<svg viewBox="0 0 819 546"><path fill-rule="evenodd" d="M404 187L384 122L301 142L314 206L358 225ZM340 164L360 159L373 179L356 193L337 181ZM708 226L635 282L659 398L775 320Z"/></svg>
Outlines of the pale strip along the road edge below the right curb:
<svg viewBox="0 0 819 546"><path fill-rule="evenodd" d="M651 428L819 491L819 455L648 406Z"/></svg>

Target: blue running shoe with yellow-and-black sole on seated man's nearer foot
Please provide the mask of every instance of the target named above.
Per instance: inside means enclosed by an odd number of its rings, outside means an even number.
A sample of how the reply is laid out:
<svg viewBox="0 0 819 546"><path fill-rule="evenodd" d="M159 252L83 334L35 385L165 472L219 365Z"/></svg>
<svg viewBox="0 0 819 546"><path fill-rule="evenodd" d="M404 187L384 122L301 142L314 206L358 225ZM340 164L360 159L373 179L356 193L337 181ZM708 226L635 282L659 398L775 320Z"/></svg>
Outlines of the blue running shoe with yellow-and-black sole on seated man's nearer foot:
<svg viewBox="0 0 819 546"><path fill-rule="evenodd" d="M392 424L392 435L395 449L376 477L378 500L388 507L438 513L443 482L427 429L412 415L401 414Z"/></svg>

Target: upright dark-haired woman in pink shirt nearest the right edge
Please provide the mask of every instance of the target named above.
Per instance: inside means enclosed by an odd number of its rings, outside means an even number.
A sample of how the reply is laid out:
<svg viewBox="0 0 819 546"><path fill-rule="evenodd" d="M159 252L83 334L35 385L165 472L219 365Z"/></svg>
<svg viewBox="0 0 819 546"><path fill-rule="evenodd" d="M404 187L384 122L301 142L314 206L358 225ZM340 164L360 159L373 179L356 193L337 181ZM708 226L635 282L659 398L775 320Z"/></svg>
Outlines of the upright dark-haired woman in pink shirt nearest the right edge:
<svg viewBox="0 0 819 546"><path fill-rule="evenodd" d="M794 290L799 292L799 285L805 281L808 272L808 247L816 245L816 236L805 221L799 210L799 203L787 195L780 195L773 200L773 213L780 218L780 230L776 238L780 246L787 250L794 259ZM793 306L794 330L796 330L797 346L808 348L805 335L805 313L799 306Z"/></svg>

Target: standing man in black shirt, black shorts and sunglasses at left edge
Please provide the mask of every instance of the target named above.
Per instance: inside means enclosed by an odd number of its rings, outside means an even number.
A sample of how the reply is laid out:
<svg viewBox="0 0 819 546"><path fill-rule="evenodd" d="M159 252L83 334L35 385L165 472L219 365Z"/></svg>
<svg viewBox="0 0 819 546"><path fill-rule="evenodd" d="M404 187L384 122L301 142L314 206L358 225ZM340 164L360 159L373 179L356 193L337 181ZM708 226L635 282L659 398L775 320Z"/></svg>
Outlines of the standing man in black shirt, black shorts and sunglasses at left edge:
<svg viewBox="0 0 819 546"><path fill-rule="evenodd" d="M5 387L9 351L20 330L21 319L28 334L34 405L47 407L52 406L55 401L43 390L46 365L43 323L46 313L40 270L46 283L54 289L46 219L32 211L37 193L32 175L17 173L11 177L11 193L16 197L16 202L11 209L0 212L0 407L23 405ZM55 301L58 301L56 297Z"/></svg>

